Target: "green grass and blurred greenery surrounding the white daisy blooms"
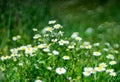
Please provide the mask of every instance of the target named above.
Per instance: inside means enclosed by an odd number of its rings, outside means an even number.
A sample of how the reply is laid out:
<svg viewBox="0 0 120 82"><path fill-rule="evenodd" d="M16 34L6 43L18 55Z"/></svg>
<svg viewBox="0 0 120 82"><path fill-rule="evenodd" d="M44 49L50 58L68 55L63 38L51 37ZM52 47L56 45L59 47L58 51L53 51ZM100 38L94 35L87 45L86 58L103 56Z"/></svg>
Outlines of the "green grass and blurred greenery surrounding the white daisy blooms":
<svg viewBox="0 0 120 82"><path fill-rule="evenodd" d="M79 36L83 38L83 41L81 43L75 41L78 46L71 51L65 51L68 45L61 48L58 44L53 44L50 53L57 49L60 52L58 57L54 55L49 56L47 55L48 53L38 50L35 52L37 55L34 57L25 57L25 53L20 51L19 53L22 56L17 58L17 61L13 61L14 59L0 60L0 70L3 71L1 75L4 74L5 82L29 82L35 81L37 78L43 82L51 82L51 80L53 82L69 82L67 77L72 77L73 82L120 81L120 56L119 53L114 53L114 50L120 51L120 47L115 47L116 44L120 45L119 3L112 0L105 4L98 4L97 1L93 3L82 1L81 3L78 0L51 0L48 2L37 0L10 0L7 1L7 3L8 5L4 3L1 3L3 5L0 4L2 8L2 11L0 10L1 57L10 55L10 49L12 48L27 44L37 46L37 41L34 41L32 38L34 35L32 28L38 28L39 33L41 33L41 30L48 25L48 21L52 19L57 20L57 22L63 26L62 31L64 31L65 34L62 39L67 39L71 42L73 41L69 38L71 34L73 32L79 32ZM88 32L89 29L92 29L92 32ZM20 35L21 39L13 41L12 38L16 35ZM50 44L50 39L50 37L42 37L41 42ZM59 40L60 39L61 38L59 38ZM91 50L81 50L79 46L82 45L84 41L90 42L92 46L96 42L99 42L101 45L99 48L93 47ZM110 49L107 53L103 51L103 48L106 48L106 42L110 44L110 46L107 46L107 48ZM94 51L100 51L102 53L100 60L92 55ZM115 69L117 73L116 77L110 77L105 72L97 73L97 76L83 76L83 68L86 66L94 67L101 62L108 64L109 60L107 60L105 56L109 53L113 54L117 61L115 66L110 66ZM76 54L80 54L80 56ZM90 56L86 56L85 54L90 54ZM70 56L71 59L64 61L62 59L64 55ZM38 63L37 60L43 62ZM24 66L18 66L19 62L24 63ZM39 69L35 69L34 64L36 63L40 66ZM72 65L75 65L75 67ZM53 66L53 69L48 71L46 69L47 66ZM66 68L66 73L64 75L58 75L55 72L57 67Z"/></svg>

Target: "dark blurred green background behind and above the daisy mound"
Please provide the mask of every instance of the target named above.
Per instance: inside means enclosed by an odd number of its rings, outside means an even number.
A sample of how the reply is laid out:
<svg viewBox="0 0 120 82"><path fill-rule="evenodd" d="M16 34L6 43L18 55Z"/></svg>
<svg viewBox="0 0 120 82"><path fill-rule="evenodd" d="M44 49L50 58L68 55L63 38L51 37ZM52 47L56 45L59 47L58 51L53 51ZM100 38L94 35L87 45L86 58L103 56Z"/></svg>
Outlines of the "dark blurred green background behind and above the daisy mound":
<svg viewBox="0 0 120 82"><path fill-rule="evenodd" d="M0 51L30 44L32 28L54 19L65 36L77 31L86 41L120 44L119 0L0 0ZM22 40L12 41L16 35Z"/></svg>

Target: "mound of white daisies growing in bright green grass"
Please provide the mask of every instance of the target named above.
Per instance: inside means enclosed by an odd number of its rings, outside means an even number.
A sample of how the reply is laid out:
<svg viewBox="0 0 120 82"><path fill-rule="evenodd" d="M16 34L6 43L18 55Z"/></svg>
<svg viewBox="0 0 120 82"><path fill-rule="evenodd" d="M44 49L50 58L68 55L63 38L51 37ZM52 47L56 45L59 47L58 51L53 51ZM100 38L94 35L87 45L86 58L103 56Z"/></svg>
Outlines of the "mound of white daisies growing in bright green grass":
<svg viewBox="0 0 120 82"><path fill-rule="evenodd" d="M102 77L100 72L117 76L117 50L106 43L84 41L78 32L66 38L56 20L48 25L41 32L33 28L33 43L10 49L10 55L0 57L0 69L8 81L11 77L12 81L78 81L83 75Z"/></svg>

